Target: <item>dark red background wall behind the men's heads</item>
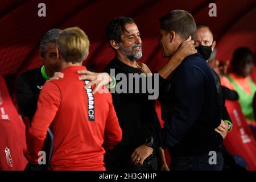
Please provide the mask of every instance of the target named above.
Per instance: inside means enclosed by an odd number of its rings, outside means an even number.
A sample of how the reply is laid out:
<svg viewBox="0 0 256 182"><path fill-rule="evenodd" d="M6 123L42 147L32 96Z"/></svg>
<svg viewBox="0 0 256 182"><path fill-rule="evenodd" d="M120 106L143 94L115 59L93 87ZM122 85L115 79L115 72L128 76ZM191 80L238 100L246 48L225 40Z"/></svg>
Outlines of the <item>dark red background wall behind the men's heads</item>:
<svg viewBox="0 0 256 182"><path fill-rule="evenodd" d="M38 16L38 4L46 3L46 17ZM209 3L217 5L217 17L210 17ZM141 61L156 71L166 63L158 46L158 18L174 9L187 10L197 23L208 24L217 40L217 58L231 59L234 49L247 46L255 53L256 1L0 1L0 75L13 75L42 65L39 42L51 28L79 26L90 39L85 64L102 71L113 57L105 40L106 24L117 16L130 16L142 36ZM9 82L8 77L6 81Z"/></svg>

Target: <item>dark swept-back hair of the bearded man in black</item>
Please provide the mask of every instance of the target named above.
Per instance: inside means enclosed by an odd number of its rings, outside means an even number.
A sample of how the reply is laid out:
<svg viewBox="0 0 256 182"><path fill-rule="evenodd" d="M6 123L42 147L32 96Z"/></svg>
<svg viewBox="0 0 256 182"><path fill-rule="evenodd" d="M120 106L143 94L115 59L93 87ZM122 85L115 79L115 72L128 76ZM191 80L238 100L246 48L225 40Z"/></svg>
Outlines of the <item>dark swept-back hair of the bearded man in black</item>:
<svg viewBox="0 0 256 182"><path fill-rule="evenodd" d="M106 26L108 41L115 40L117 43L121 42L122 32L125 31L125 25L128 23L134 23L134 20L125 16L120 16L109 22Z"/></svg>

